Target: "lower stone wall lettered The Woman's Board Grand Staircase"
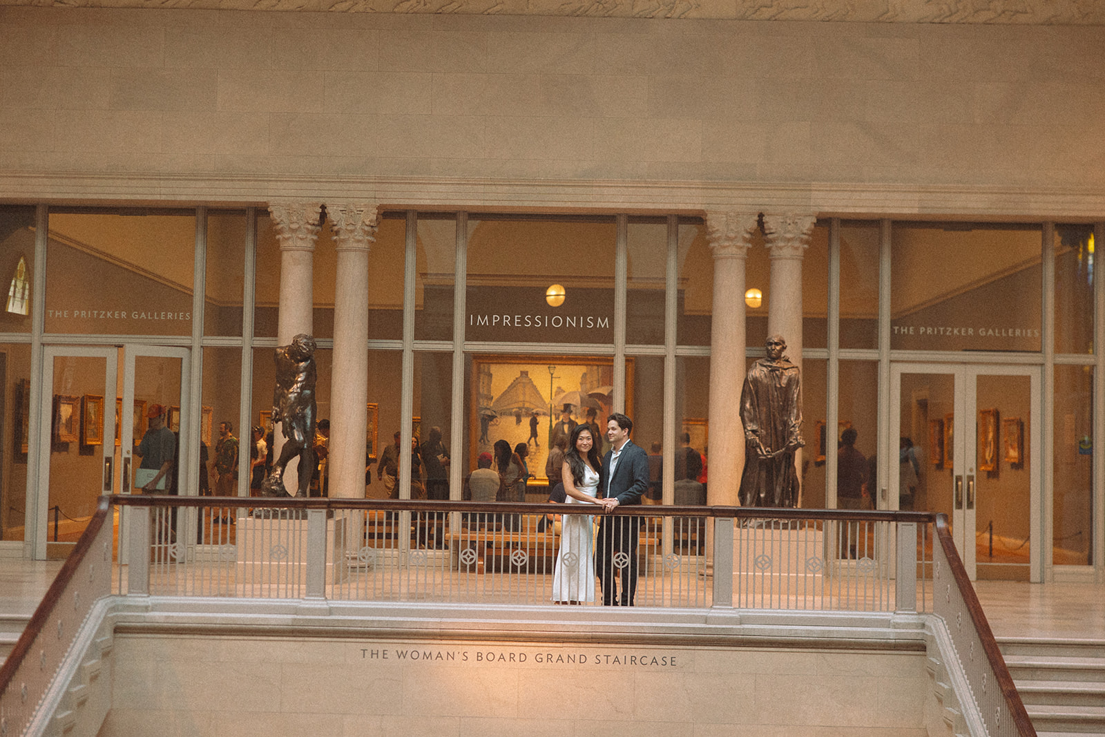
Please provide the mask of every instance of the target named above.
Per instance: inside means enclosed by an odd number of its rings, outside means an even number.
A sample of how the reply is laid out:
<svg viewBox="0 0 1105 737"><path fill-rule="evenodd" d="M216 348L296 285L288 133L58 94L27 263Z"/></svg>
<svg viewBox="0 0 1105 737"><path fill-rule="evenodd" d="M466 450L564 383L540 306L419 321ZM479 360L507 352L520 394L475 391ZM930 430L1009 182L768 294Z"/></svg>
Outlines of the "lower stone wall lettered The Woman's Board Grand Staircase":
<svg viewBox="0 0 1105 737"><path fill-rule="evenodd" d="M101 737L920 737L918 651L116 632Z"/></svg>

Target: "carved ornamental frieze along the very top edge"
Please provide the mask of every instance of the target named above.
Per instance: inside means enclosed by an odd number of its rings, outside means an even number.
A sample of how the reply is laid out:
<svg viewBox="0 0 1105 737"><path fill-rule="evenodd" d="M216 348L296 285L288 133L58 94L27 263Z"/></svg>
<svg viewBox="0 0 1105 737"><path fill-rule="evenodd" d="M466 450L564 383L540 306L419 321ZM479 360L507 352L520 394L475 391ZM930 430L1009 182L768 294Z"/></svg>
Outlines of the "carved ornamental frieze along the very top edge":
<svg viewBox="0 0 1105 737"><path fill-rule="evenodd" d="M1099 0L0 0L0 6L857 23L1105 24Z"/></svg>

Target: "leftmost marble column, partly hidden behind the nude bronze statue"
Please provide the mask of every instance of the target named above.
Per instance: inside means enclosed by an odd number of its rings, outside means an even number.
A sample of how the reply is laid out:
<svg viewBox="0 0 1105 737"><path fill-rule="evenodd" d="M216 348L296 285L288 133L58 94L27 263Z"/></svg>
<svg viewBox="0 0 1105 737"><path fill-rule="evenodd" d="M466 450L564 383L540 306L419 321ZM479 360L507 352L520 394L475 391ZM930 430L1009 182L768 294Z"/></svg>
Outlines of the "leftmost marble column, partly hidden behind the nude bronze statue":
<svg viewBox="0 0 1105 737"><path fill-rule="evenodd" d="M280 201L269 203L269 214L280 243L280 312L276 317L277 345L286 346L305 333L314 335L315 243L318 241L320 202ZM249 433L244 432L242 436ZM273 457L284 446L282 430L273 431ZM284 470L284 483L298 477L299 462L293 460ZM291 494L295 489L288 487Z"/></svg>

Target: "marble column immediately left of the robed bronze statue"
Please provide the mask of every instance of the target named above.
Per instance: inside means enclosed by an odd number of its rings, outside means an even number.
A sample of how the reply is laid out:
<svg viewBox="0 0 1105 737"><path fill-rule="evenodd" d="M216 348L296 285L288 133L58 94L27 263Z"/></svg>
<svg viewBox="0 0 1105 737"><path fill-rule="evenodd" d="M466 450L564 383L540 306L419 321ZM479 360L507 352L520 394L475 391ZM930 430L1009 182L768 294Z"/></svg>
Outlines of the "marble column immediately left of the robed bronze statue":
<svg viewBox="0 0 1105 737"><path fill-rule="evenodd" d="M745 465L745 431L738 418L745 380L745 261L758 212L707 212L714 253L714 306L709 348L709 483L706 503L737 506Z"/></svg>

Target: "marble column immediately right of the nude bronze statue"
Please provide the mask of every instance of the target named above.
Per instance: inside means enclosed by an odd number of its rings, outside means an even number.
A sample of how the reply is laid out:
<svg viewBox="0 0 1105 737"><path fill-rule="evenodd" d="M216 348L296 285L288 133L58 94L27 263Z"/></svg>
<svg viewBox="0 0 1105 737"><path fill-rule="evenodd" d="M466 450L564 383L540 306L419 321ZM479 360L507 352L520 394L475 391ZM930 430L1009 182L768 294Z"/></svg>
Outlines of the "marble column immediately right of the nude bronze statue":
<svg viewBox="0 0 1105 737"><path fill-rule="evenodd" d="M368 252L376 241L375 202L328 204L337 244L334 369L330 379L330 497L365 497L368 406Z"/></svg>

